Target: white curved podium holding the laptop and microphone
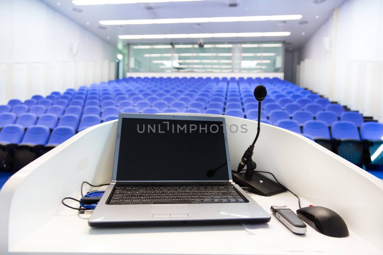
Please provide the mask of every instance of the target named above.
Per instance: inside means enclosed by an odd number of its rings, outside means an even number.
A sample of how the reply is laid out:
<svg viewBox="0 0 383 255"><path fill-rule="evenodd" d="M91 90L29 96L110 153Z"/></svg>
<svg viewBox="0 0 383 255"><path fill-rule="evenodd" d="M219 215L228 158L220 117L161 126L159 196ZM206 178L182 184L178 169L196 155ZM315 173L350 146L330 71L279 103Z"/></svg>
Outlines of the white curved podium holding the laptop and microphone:
<svg viewBox="0 0 383 255"><path fill-rule="evenodd" d="M257 122L224 117L236 169ZM248 132L230 132L232 124ZM257 170L273 172L302 206L336 211L349 237L327 237L310 226L299 236L274 216L254 225L91 228L87 215L61 199L80 198L84 180L110 182L116 128L117 120L88 128L8 180L0 192L0 254L383 254L383 182L304 136L264 123L253 156ZM251 196L270 214L271 205L298 209L289 192Z"/></svg>

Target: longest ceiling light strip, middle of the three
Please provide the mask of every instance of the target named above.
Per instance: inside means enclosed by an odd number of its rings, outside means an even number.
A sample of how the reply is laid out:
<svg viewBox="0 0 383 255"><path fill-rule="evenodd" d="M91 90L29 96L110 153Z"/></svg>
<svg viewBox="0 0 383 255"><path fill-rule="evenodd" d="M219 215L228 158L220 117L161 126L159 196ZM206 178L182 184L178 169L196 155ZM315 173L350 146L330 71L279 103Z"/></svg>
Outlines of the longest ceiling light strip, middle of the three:
<svg viewBox="0 0 383 255"><path fill-rule="evenodd" d="M138 24L180 24L180 23L208 23L208 22L238 22L238 21L268 21L301 19L302 15L273 15L273 16L244 16L244 17L216 17L216 18L175 18L175 19L127 19L100 20L101 25L138 25Z"/></svg>

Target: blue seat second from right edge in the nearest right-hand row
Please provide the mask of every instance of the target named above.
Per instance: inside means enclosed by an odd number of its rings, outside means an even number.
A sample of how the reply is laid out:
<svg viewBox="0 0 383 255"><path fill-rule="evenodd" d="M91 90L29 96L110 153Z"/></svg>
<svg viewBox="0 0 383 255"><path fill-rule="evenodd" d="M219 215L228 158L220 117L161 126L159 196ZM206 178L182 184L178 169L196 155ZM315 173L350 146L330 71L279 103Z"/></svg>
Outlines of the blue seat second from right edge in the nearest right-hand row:
<svg viewBox="0 0 383 255"><path fill-rule="evenodd" d="M338 154L344 159L361 166L363 143L360 142L358 128L354 122L337 121L331 126L332 138L340 140Z"/></svg>

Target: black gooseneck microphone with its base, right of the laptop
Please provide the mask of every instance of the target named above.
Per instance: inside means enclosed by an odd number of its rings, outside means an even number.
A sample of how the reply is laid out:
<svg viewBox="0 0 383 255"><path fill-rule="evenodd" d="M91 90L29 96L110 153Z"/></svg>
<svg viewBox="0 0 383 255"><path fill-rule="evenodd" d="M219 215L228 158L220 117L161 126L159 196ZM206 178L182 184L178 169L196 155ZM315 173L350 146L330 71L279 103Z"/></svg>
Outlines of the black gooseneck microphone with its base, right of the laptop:
<svg viewBox="0 0 383 255"><path fill-rule="evenodd" d="M258 139L260 132L260 120L261 120L261 104L262 101L267 96L267 90L265 86L258 85L254 89L254 97L258 101L258 127L257 127L257 135L253 143L247 148L245 153L243 154L241 161L238 164L237 172L232 175L233 181L241 187L249 187L250 192L262 195L262 196L270 196L274 194L278 194L281 192L285 192L286 188L281 186L280 184L274 182L273 180L268 179L264 175L259 174L258 172L254 172L255 168L257 168L257 164L252 159L254 154L254 145ZM246 172L240 173L244 167L246 166Z"/></svg>

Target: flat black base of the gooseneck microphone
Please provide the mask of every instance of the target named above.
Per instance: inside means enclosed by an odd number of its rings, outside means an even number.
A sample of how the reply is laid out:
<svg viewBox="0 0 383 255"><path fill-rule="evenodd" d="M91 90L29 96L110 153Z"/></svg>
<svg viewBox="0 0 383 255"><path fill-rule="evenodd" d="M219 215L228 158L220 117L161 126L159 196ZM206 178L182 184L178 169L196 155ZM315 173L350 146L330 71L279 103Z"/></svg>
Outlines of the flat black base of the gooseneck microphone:
<svg viewBox="0 0 383 255"><path fill-rule="evenodd" d="M246 178L245 173L236 173L232 175L233 181L240 187L251 188L250 192L262 195L264 197L272 196L286 191L286 188L268 179L264 175L254 172L252 177ZM262 181L262 182L261 182Z"/></svg>

